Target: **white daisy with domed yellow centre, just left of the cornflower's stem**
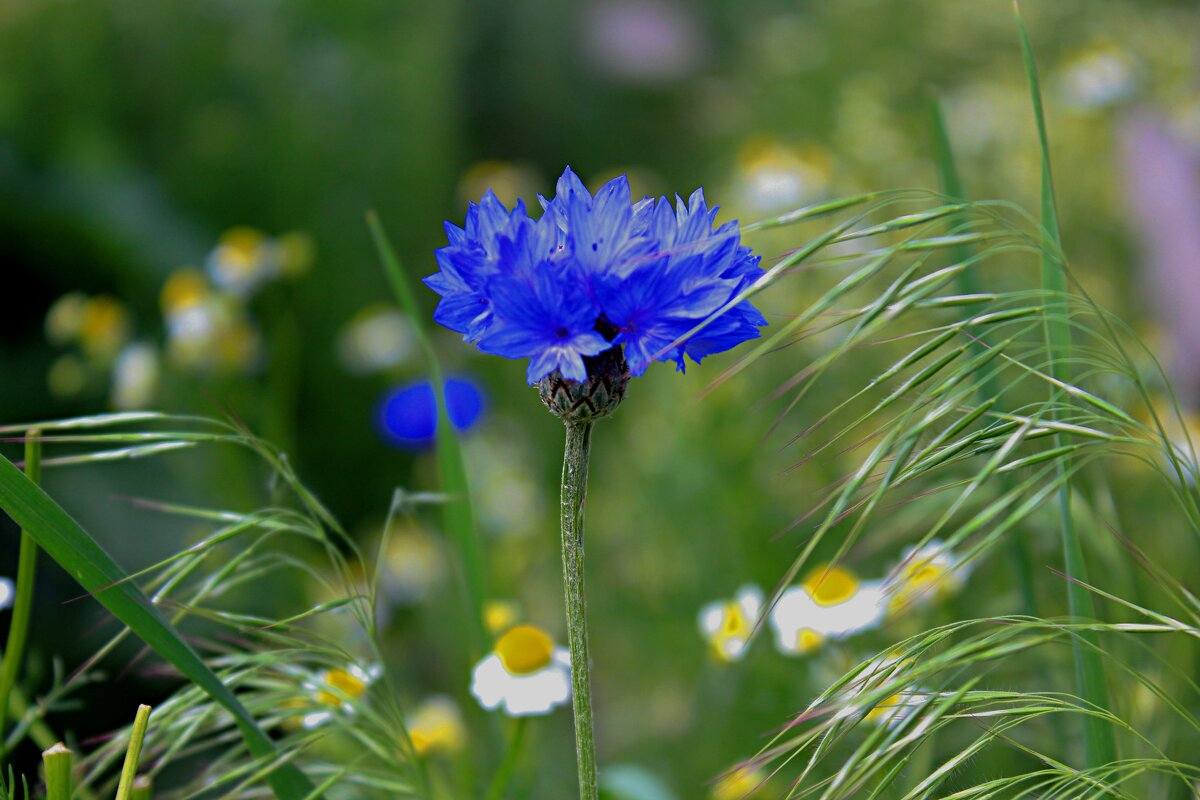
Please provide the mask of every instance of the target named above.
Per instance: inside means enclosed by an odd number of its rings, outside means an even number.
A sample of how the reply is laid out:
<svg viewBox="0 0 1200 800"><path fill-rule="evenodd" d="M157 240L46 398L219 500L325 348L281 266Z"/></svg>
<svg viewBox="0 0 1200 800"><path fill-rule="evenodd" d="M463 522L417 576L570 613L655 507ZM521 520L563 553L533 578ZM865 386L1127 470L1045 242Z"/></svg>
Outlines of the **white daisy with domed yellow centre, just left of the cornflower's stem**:
<svg viewBox="0 0 1200 800"><path fill-rule="evenodd" d="M514 717L548 714L571 697L571 654L545 631L517 625L475 664L470 693L488 711Z"/></svg>

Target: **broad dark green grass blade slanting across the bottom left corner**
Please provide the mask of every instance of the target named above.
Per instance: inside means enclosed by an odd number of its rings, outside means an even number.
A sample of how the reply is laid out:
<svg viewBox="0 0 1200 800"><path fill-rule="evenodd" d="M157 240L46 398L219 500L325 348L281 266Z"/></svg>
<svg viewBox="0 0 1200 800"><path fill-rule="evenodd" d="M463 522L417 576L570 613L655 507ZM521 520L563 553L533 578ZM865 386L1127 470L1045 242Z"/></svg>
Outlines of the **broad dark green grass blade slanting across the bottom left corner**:
<svg viewBox="0 0 1200 800"><path fill-rule="evenodd" d="M245 706L142 590L125 579L125 571L62 506L4 457L0 457L0 509L146 645L223 705L256 758L275 757L275 746ZM308 778L292 764L280 765L266 780L280 800L302 800L312 792Z"/></svg>

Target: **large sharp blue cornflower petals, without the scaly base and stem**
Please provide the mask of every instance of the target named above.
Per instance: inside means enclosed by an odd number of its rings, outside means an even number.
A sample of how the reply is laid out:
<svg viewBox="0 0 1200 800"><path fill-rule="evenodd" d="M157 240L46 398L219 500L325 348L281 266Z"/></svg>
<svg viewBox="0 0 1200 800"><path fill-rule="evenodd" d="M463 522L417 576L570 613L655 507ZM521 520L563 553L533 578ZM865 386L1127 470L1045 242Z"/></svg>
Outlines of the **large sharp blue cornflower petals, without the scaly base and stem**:
<svg viewBox="0 0 1200 800"><path fill-rule="evenodd" d="M632 203L623 175L593 197L568 168L556 197L539 199L545 213L534 219L488 191L464 228L446 223L450 243L425 278L442 295L433 318L485 353L529 359L530 384L556 371L586 380L584 356L617 345L634 375L655 360L683 371L685 355L698 362L767 324L749 301L725 308L762 270L737 222L713 227L703 190L673 207Z"/></svg>

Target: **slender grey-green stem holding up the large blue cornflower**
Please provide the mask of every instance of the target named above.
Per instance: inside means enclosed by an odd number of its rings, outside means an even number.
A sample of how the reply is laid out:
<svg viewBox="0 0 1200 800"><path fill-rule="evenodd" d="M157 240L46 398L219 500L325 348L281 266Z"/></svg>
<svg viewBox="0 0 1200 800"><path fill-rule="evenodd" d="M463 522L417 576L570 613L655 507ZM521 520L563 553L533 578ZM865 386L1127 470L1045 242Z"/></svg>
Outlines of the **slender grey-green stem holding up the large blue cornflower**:
<svg viewBox="0 0 1200 800"><path fill-rule="evenodd" d="M587 599L583 590L583 506L588 489L590 422L565 422L563 453L563 584L566 593L566 637L571 646L571 705L575 709L575 753L580 766L580 799L596 800L595 732L592 723L592 666L588 662Z"/></svg>

